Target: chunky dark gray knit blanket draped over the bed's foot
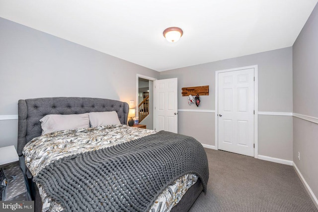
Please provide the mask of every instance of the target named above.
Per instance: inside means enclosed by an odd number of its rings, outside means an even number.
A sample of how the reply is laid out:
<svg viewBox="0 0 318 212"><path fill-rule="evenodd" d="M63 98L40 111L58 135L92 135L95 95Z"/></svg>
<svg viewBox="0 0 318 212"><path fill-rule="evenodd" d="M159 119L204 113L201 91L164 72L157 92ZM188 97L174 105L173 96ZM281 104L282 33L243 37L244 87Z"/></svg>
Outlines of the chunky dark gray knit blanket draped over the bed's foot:
<svg viewBox="0 0 318 212"><path fill-rule="evenodd" d="M209 178L202 145L192 137L160 131L130 142L71 155L33 178L67 212L149 211L177 178Z"/></svg>

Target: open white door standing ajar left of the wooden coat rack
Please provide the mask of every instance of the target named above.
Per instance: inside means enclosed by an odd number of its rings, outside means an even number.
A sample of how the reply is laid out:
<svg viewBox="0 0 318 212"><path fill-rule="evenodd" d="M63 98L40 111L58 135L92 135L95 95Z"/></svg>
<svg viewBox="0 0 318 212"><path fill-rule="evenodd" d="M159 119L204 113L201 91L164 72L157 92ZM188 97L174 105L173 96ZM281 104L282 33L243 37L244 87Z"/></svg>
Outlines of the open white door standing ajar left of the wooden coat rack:
<svg viewBox="0 0 318 212"><path fill-rule="evenodd" d="M154 81L155 130L178 132L178 79Z"/></svg>

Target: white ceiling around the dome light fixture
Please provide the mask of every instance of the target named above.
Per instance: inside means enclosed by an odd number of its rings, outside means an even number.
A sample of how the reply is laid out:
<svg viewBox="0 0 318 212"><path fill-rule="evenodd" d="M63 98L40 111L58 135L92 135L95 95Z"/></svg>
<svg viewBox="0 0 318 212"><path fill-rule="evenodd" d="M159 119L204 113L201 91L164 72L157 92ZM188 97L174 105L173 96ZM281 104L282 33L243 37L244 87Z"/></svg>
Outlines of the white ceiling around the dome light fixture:
<svg viewBox="0 0 318 212"><path fill-rule="evenodd" d="M0 17L165 71L292 46L317 1L0 0Z"/></svg>

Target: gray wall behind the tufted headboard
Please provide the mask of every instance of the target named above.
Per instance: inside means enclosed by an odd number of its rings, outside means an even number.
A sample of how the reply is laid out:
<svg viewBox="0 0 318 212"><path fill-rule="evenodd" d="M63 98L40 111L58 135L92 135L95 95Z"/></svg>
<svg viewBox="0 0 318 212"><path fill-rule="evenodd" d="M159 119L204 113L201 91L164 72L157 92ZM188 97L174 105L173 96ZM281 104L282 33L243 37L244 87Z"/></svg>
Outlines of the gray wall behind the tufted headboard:
<svg viewBox="0 0 318 212"><path fill-rule="evenodd" d="M19 99L136 100L136 75L159 72L0 18L0 119ZM0 147L17 143L17 120L0 120Z"/></svg>

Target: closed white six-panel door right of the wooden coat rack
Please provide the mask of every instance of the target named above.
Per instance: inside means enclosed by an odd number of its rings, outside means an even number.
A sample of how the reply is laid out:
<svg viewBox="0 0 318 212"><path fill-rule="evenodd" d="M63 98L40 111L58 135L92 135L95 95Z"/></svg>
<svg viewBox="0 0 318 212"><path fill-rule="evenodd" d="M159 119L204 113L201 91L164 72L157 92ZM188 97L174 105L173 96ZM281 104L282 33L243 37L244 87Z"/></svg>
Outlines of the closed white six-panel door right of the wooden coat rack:
<svg viewBox="0 0 318 212"><path fill-rule="evenodd" d="M254 156L254 69L218 73L219 149Z"/></svg>

